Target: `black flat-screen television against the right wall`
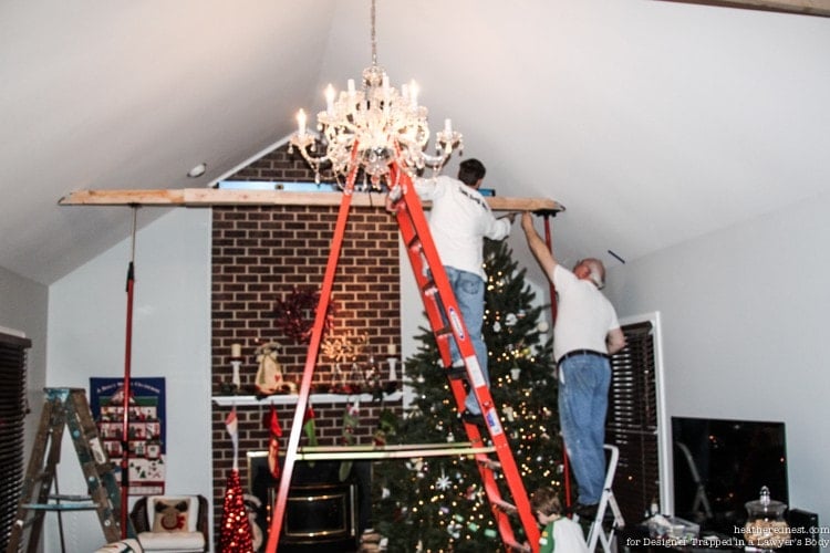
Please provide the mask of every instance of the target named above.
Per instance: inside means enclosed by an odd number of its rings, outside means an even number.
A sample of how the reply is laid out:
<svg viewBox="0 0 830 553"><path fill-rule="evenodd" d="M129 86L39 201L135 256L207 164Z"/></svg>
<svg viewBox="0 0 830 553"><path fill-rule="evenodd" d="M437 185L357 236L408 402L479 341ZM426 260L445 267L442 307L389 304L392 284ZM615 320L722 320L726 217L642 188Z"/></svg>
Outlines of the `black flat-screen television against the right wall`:
<svg viewBox="0 0 830 553"><path fill-rule="evenodd" d="M761 487L789 503L784 422L672 417L674 513L725 535Z"/></svg>

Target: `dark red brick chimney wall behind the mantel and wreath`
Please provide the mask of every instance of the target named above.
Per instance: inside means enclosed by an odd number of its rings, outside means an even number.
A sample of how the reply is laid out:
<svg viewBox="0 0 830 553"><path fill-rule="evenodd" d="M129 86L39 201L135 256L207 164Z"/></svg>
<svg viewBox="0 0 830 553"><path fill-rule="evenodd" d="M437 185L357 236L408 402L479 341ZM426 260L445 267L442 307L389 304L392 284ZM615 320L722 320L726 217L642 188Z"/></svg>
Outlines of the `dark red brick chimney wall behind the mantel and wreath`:
<svg viewBox="0 0 830 553"><path fill-rule="evenodd" d="M300 159L280 148L253 161L229 180L313 181L313 175ZM255 351L264 342L280 344L278 357L286 379L299 383L308 345L280 333L273 310L278 301L286 300L294 290L320 289L336 217L338 207L326 206L212 209L211 379L215 396L221 395L222 385L231 380L231 344L242 345L240 376L243 388L253 382L258 366ZM351 209L332 302L334 312L329 331L332 335L365 335L366 357L372 354L378 363L385 361L390 346L401 351L398 231L394 218L382 207ZM313 313L310 316L313 317ZM313 389L324 390L333 382L333 373L334 363L319 356ZM341 398L325 403L312 396L320 445L341 444L346 405ZM401 401L386 401L383 406L361 403L359 425L353 432L357 444L372 442L382 408L400 411ZM243 486L248 481L246 452L268 448L269 430L263 419L269 409L264 401L237 403L239 467ZM283 428L280 447L284 452L294 406L290 400L281 399L276 409ZM231 441L225 428L228 413L227 404L214 403L217 538L226 479L232 467ZM304 442L303 437L301 445Z"/></svg>

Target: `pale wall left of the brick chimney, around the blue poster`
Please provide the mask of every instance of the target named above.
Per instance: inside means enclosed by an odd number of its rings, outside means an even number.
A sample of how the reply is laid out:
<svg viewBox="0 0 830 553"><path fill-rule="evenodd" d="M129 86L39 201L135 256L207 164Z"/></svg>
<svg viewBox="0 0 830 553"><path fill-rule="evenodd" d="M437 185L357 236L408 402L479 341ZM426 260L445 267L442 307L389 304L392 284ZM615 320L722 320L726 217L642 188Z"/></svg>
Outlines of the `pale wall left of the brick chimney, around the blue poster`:
<svg viewBox="0 0 830 553"><path fill-rule="evenodd" d="M142 216L139 210L139 221ZM50 286L48 386L89 390L91 376L124 375L129 259L125 240ZM176 209L138 231L133 305L132 375L166 379L167 491L210 499L208 209ZM64 439L63 493L85 492L74 460ZM93 513L64 515L63 526L69 551L103 544ZM45 551L58 551L56 524L49 528Z"/></svg>

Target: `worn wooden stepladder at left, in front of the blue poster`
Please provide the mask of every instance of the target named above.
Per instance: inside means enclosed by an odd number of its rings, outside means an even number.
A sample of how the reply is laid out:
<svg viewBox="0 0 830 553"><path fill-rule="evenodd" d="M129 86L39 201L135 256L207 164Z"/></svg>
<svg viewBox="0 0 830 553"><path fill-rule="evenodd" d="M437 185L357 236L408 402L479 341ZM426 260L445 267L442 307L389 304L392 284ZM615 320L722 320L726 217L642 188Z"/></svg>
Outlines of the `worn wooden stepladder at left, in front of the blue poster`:
<svg viewBox="0 0 830 553"><path fill-rule="evenodd" d="M107 543L121 540L121 489L115 465L110 462L92 418L83 388L45 388L45 404L23 480L18 513L9 534L7 553L35 552L45 513L96 511ZM89 495L52 493L61 460L63 430L69 427ZM135 531L127 519L127 536Z"/></svg>

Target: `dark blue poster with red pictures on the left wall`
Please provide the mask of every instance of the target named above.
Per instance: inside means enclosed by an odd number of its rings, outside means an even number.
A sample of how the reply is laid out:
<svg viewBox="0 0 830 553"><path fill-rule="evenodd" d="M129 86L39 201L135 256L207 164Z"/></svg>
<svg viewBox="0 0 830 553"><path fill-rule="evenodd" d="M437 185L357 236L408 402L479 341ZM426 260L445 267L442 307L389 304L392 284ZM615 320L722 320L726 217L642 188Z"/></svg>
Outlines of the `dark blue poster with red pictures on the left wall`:
<svg viewBox="0 0 830 553"><path fill-rule="evenodd" d="M167 452L164 378L131 378L129 396L128 493L162 494ZM90 378L90 410L107 455L121 471L124 379Z"/></svg>

